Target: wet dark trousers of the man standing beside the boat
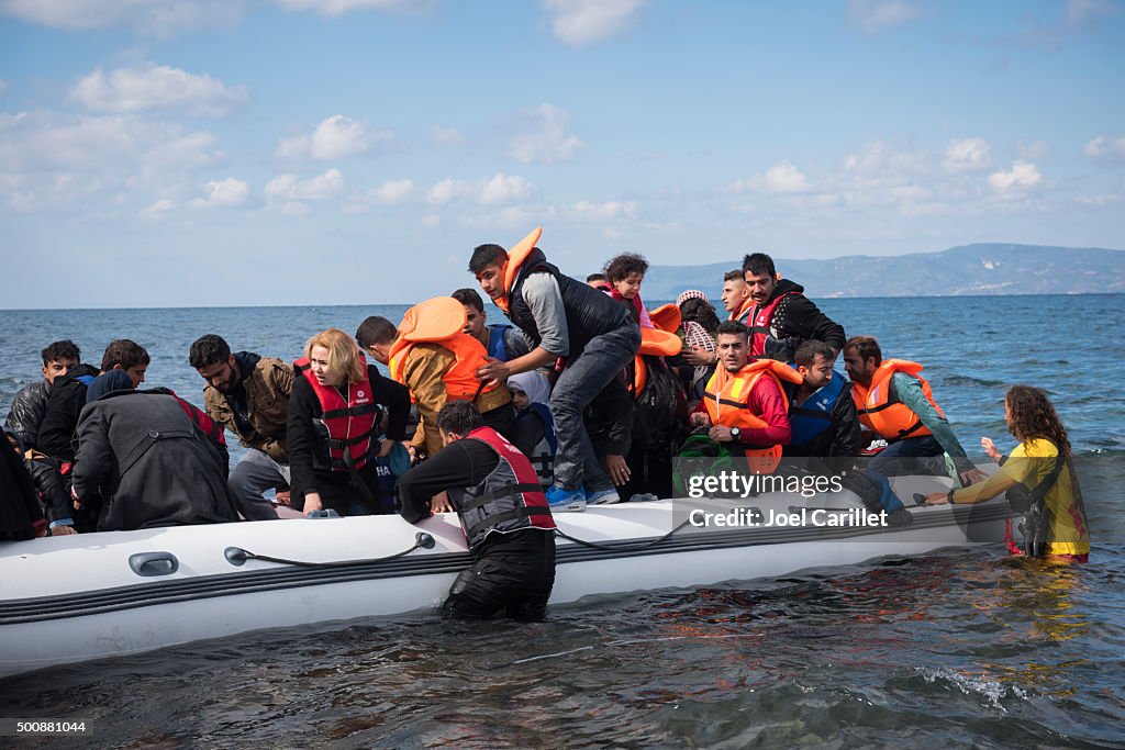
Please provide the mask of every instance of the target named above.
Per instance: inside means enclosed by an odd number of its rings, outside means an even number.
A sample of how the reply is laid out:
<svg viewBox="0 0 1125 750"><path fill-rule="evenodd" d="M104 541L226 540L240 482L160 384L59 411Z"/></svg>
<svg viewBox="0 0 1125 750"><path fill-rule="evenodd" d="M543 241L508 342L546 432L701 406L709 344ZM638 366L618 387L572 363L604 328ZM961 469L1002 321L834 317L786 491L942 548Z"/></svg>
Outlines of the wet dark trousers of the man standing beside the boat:
<svg viewBox="0 0 1125 750"><path fill-rule="evenodd" d="M514 620L542 620L555 586L555 532L494 532L482 545L480 557L449 589L442 616L487 620L503 612Z"/></svg>

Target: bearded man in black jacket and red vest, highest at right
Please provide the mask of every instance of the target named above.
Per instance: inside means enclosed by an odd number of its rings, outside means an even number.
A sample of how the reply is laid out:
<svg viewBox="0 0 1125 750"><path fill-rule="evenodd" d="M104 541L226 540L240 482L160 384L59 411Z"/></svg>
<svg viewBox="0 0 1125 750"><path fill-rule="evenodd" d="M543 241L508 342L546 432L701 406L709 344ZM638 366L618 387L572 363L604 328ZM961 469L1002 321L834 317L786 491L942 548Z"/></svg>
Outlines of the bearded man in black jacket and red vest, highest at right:
<svg viewBox="0 0 1125 750"><path fill-rule="evenodd" d="M773 259L753 253L742 259L742 277L749 291L750 356L792 362L801 342L816 338L832 349L832 360L847 337L839 325L804 296L804 287L782 279Z"/></svg>

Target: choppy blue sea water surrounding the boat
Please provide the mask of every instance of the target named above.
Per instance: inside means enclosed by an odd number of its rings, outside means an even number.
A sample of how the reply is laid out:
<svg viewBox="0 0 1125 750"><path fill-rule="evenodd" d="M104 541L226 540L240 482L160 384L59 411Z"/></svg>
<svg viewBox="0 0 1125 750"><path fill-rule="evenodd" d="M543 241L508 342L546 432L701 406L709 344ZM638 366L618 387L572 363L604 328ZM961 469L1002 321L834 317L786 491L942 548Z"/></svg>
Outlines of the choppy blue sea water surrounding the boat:
<svg viewBox="0 0 1125 750"><path fill-rule="evenodd" d="M100 747L1125 747L1125 296L828 300L926 364L971 454L1010 448L1004 387L1046 388L1080 457L1091 562L997 549L596 597L546 623L429 616L254 633L0 683L0 716L93 721ZM0 403L71 336L114 336L184 396L198 335L292 358L403 307L0 311ZM0 582L2 586L2 582ZM21 744L74 747L73 740Z"/></svg>

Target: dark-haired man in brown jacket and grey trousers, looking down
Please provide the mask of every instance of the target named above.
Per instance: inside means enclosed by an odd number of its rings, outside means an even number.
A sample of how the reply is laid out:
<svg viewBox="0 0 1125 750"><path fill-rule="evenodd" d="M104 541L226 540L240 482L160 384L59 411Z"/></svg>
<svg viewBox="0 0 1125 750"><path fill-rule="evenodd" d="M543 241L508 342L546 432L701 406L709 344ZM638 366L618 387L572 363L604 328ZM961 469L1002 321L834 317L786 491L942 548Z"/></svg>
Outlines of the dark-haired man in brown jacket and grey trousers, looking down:
<svg viewBox="0 0 1125 750"><path fill-rule="evenodd" d="M292 367L253 352L232 354L230 344L213 333L191 344L188 361L207 381L207 415L249 449L227 480L240 512L249 521L277 518L263 493L289 486L286 419Z"/></svg>

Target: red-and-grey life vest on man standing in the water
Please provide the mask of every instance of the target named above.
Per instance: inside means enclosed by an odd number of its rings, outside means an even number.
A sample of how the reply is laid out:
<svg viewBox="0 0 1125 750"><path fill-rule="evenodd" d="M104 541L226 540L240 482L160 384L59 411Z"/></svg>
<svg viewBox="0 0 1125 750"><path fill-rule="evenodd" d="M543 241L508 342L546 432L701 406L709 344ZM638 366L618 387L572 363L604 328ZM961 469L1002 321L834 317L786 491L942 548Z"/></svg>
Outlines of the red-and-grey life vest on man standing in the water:
<svg viewBox="0 0 1125 750"><path fill-rule="evenodd" d="M477 427L466 440L478 440L500 457L479 485L449 490L469 546L485 541L490 532L555 528L539 475L528 457L492 427Z"/></svg>

